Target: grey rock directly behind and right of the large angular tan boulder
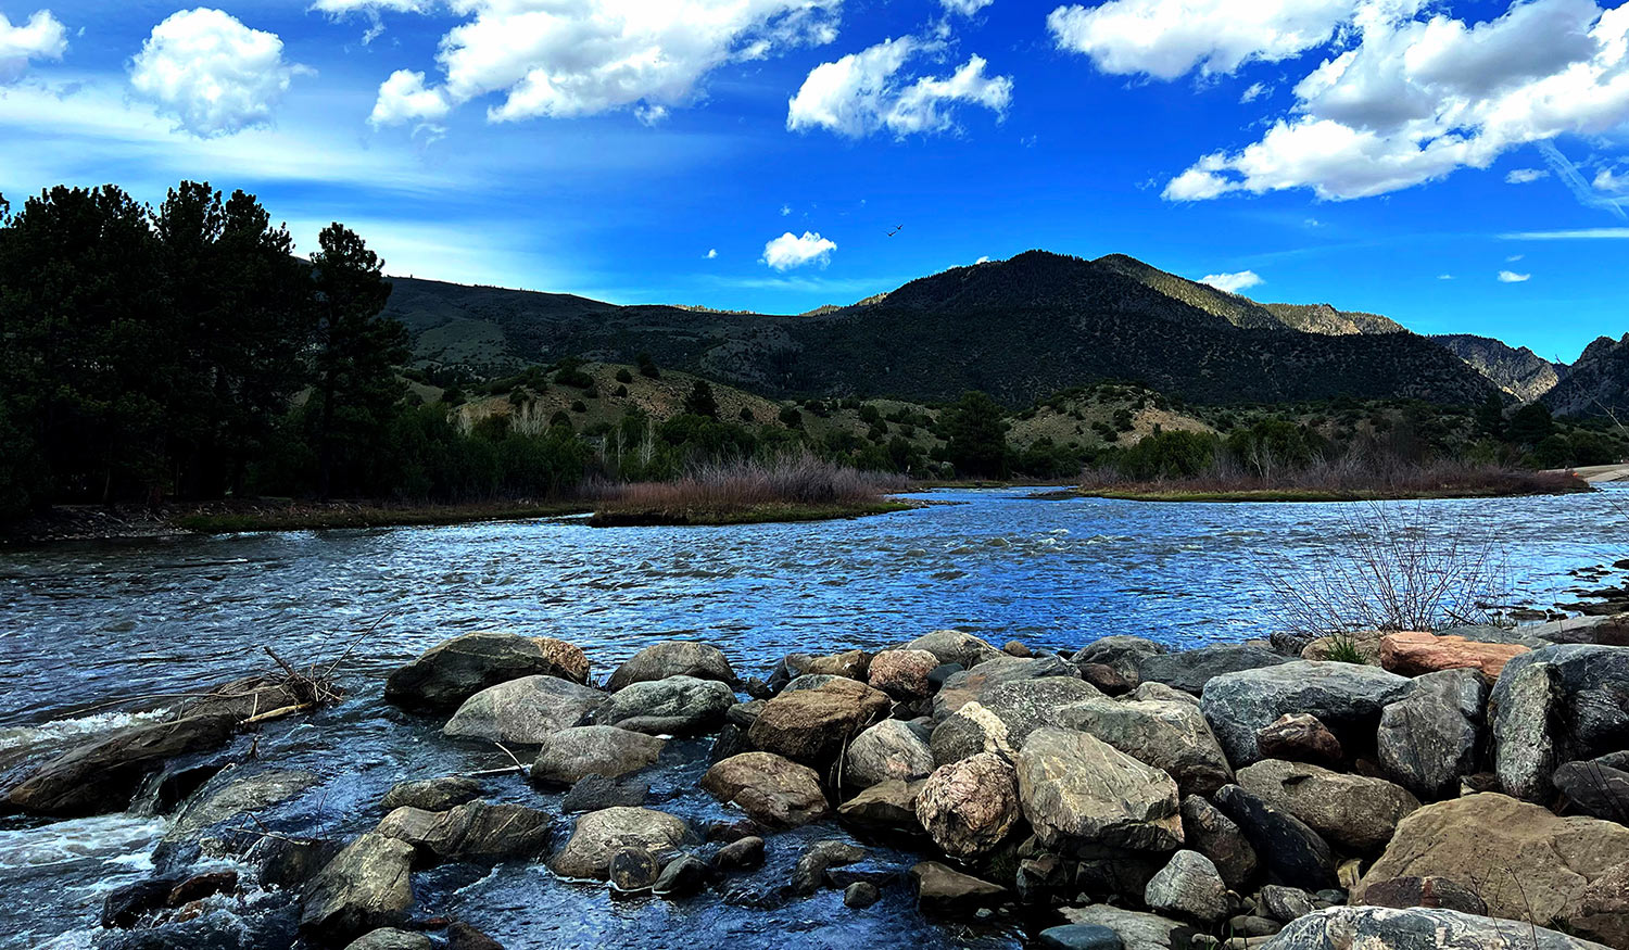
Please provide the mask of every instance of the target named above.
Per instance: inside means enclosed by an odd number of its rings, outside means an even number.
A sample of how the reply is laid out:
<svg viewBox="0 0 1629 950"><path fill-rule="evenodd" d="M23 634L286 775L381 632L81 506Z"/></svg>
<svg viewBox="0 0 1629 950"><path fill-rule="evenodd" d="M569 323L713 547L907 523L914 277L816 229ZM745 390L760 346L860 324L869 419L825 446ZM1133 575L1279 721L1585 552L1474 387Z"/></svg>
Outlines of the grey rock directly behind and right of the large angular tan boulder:
<svg viewBox="0 0 1629 950"><path fill-rule="evenodd" d="M1082 699L1060 706L1054 722L1163 769L1184 795L1210 795L1233 781L1210 725L1191 702Z"/></svg>

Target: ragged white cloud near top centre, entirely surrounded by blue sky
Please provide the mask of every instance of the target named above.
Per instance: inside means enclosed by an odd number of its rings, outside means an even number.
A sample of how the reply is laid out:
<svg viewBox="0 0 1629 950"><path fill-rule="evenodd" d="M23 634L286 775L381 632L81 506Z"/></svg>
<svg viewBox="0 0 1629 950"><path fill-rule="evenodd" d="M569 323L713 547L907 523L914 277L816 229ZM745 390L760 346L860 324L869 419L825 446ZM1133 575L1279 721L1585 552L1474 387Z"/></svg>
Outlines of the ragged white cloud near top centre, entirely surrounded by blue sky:
<svg viewBox="0 0 1629 950"><path fill-rule="evenodd" d="M901 36L814 67L787 103L787 129L829 129L850 139L886 129L906 137L955 129L956 103L984 106L997 117L1007 112L1013 81L984 75L982 57L969 57L945 78L899 75L912 57L938 49Z"/></svg>

